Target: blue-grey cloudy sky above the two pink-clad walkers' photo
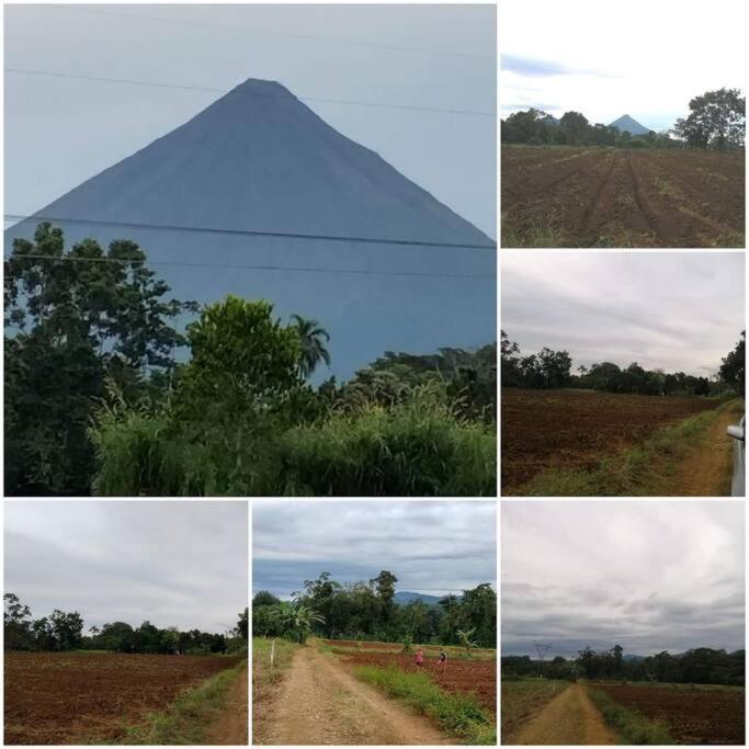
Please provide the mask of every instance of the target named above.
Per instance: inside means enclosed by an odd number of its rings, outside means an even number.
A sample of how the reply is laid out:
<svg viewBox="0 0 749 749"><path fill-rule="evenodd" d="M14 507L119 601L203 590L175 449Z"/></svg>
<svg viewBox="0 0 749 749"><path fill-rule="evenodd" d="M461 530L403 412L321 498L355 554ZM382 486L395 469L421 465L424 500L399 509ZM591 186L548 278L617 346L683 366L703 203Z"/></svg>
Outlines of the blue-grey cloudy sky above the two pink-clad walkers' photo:
<svg viewBox="0 0 749 749"><path fill-rule="evenodd" d="M497 577L495 502L256 502L252 589L288 597L331 572L356 582L388 569L396 589L459 593Z"/></svg>

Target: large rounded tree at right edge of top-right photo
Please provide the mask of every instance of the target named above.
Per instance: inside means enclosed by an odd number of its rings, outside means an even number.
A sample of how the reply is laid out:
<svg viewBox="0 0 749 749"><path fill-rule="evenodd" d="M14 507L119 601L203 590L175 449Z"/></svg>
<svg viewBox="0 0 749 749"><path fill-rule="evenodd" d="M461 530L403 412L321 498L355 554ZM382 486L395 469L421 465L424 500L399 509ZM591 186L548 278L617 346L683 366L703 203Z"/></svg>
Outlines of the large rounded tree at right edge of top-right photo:
<svg viewBox="0 0 749 749"><path fill-rule="evenodd" d="M739 89L707 91L692 99L689 107L689 116L678 120L673 127L677 137L697 148L744 146L746 99Z"/></svg>

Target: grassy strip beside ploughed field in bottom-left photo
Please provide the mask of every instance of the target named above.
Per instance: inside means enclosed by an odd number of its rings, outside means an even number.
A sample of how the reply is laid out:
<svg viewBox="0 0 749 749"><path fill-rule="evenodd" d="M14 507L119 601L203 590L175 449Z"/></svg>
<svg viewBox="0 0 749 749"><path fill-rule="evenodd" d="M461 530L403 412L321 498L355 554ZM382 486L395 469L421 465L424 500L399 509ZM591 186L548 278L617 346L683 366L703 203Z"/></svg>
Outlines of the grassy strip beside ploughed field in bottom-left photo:
<svg viewBox="0 0 749 749"><path fill-rule="evenodd" d="M164 711L149 713L140 725L126 726L124 737L113 744L200 745L224 707L235 679L243 678L247 661L220 671L197 686L182 692ZM101 741L97 741L101 744Z"/></svg>

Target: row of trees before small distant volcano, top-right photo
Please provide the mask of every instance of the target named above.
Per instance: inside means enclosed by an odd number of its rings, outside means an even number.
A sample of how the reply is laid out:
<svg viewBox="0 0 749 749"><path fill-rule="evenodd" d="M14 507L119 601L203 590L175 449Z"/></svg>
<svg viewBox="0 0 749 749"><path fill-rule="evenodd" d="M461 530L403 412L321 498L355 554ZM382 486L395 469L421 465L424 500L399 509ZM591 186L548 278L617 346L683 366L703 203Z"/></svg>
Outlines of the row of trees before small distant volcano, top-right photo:
<svg viewBox="0 0 749 749"><path fill-rule="evenodd" d="M672 129L633 135L602 123L590 123L580 112L565 112L557 120L542 110L514 112L501 121L501 139L529 146L610 146L619 148L742 148L746 99L738 89L718 89L695 97L689 116Z"/></svg>

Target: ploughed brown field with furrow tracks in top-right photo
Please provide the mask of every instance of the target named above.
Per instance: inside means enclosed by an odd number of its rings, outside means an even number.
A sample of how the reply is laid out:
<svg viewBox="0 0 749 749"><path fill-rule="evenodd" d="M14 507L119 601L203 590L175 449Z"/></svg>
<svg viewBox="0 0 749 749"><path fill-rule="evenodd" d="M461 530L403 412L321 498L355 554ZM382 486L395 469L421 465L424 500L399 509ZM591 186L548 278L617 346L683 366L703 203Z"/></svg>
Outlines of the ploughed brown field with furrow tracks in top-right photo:
<svg viewBox="0 0 749 749"><path fill-rule="evenodd" d="M745 157L509 147L502 247L742 247Z"/></svg>

